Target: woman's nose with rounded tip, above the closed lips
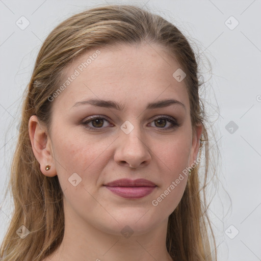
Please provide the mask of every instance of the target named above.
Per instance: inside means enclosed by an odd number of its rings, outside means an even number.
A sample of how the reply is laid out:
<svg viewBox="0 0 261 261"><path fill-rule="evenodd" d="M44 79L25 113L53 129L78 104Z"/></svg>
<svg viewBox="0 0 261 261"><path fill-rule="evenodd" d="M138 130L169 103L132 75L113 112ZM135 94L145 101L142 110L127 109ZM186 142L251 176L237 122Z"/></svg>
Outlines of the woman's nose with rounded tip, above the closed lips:
<svg viewBox="0 0 261 261"><path fill-rule="evenodd" d="M129 134L121 131L114 160L129 168L145 167L151 161L149 144L145 144L140 128L135 126Z"/></svg>

